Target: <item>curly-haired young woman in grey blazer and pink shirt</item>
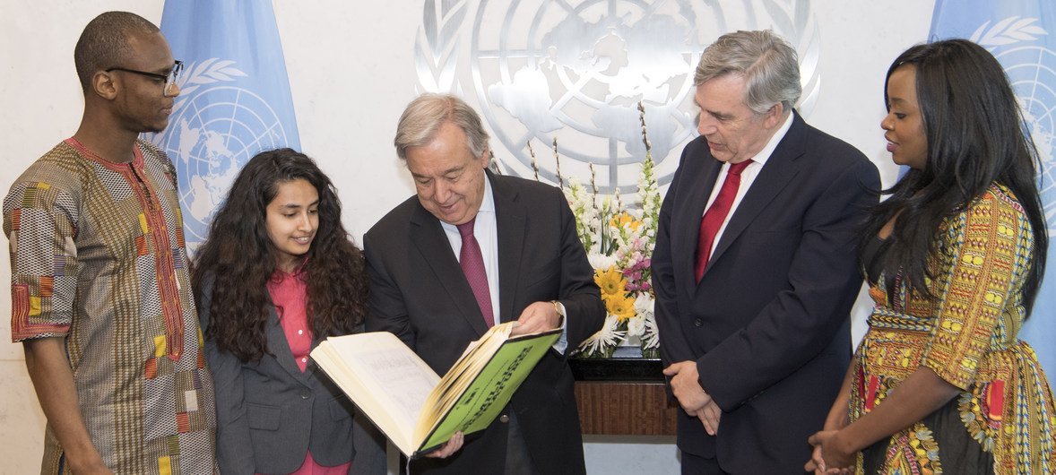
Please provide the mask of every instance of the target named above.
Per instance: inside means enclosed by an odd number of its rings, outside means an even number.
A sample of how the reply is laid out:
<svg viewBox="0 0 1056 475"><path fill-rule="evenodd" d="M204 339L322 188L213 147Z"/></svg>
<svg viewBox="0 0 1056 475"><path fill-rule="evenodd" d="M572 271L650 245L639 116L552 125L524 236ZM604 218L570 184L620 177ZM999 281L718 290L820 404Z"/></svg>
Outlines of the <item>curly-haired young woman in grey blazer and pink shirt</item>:
<svg viewBox="0 0 1056 475"><path fill-rule="evenodd" d="M221 473L370 471L375 461L356 449L373 441L352 402L308 358L326 337L358 331L366 314L365 261L329 178L294 150L258 154L194 264Z"/></svg>

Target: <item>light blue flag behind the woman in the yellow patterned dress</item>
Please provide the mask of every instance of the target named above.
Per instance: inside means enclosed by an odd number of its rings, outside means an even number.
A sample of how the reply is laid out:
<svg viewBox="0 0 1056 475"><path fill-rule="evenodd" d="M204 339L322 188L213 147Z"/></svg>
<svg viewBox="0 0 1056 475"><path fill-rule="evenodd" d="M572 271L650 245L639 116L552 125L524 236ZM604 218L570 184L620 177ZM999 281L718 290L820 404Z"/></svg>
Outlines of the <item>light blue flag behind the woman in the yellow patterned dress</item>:
<svg viewBox="0 0 1056 475"><path fill-rule="evenodd" d="M967 38L988 50L1023 106L1041 158L1038 182L1049 225L1049 262L1034 312L1020 337L1031 343L1056 383L1056 2L937 0L931 39Z"/></svg>

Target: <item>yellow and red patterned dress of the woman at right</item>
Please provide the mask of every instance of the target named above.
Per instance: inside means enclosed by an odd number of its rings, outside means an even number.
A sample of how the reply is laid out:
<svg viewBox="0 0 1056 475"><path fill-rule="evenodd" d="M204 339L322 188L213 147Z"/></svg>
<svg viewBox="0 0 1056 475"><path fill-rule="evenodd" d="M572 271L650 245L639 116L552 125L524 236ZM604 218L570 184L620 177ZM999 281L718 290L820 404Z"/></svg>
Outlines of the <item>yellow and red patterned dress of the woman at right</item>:
<svg viewBox="0 0 1056 475"><path fill-rule="evenodd" d="M937 245L926 281L934 300L899 277L870 282L876 305L856 352L851 420L921 366L962 393L864 451L857 473L1052 473L1052 394L1034 350L1017 339L1034 245L1026 215L1007 189L992 186L943 223Z"/></svg>

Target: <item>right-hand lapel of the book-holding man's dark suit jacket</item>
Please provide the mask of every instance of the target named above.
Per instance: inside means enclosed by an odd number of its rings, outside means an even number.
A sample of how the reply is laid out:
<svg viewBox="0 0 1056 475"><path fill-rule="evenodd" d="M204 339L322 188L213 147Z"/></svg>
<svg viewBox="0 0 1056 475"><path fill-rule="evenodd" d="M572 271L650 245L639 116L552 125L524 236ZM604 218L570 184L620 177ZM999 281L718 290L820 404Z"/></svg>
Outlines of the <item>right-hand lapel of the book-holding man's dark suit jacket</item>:
<svg viewBox="0 0 1056 475"><path fill-rule="evenodd" d="M524 252L525 210L517 203L518 194L515 189L503 188L490 172L488 177L495 198L495 233L498 245L498 315L495 317L501 322L507 322L520 317L513 314L513 301Z"/></svg>

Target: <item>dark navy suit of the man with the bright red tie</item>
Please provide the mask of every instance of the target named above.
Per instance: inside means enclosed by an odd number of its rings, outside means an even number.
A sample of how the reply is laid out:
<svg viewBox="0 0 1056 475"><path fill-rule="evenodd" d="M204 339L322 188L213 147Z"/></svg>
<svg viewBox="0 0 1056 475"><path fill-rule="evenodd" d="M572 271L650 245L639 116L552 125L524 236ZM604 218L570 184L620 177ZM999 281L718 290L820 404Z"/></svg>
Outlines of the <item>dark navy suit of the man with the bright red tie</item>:
<svg viewBox="0 0 1056 475"><path fill-rule="evenodd" d="M700 220L721 166L703 137L685 147L653 254L664 364L696 361L723 411L715 437L679 411L678 445L731 473L802 473L849 364L854 231L879 173L796 114L697 284Z"/></svg>

